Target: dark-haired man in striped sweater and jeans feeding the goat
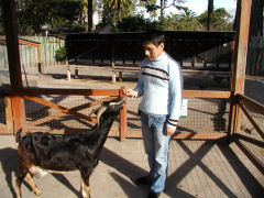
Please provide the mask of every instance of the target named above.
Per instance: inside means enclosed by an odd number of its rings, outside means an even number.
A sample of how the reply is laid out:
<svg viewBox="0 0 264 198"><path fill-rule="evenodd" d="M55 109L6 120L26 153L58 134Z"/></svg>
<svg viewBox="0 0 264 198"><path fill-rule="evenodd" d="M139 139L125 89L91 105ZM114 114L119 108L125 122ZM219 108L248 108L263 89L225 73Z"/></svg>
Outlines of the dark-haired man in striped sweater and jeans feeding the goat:
<svg viewBox="0 0 264 198"><path fill-rule="evenodd" d="M143 96L139 106L142 134L150 174L136 179L139 185L151 185L147 197L158 197L164 190L168 167L168 146L175 133L183 91L180 66L164 51L165 36L158 31L146 32L135 89L124 89L128 97Z"/></svg>

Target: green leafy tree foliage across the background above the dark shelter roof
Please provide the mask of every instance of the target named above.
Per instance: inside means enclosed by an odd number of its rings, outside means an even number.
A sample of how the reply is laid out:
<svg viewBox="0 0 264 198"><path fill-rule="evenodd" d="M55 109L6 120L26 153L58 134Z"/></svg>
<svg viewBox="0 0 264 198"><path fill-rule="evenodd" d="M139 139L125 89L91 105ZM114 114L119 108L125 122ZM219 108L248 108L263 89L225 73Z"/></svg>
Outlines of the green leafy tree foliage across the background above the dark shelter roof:
<svg viewBox="0 0 264 198"><path fill-rule="evenodd" d="M94 11L98 8L102 19L97 28L111 26L119 32L146 29L199 31L206 28L207 12L197 16L195 12L180 6L185 0L94 1ZM50 33L84 32L87 28L87 7L88 0L16 0L19 35L41 34L44 26L48 28ZM175 7L180 12L161 16L161 12L169 7ZM139 8L141 11L135 11ZM142 10L147 11L150 16L146 18ZM213 11L212 30L232 30L231 15L224 9ZM0 19L0 34L3 33Z"/></svg>

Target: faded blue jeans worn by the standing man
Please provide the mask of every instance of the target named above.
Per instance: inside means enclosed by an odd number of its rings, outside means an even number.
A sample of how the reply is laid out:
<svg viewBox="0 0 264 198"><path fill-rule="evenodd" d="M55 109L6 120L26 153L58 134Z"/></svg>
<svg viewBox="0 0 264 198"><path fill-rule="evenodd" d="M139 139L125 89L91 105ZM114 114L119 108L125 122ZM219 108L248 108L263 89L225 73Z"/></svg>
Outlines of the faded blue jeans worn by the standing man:
<svg viewBox="0 0 264 198"><path fill-rule="evenodd" d="M164 190L168 167L168 146L170 135L165 135L167 116L141 114L142 134L145 152L147 154L151 190L160 193Z"/></svg>

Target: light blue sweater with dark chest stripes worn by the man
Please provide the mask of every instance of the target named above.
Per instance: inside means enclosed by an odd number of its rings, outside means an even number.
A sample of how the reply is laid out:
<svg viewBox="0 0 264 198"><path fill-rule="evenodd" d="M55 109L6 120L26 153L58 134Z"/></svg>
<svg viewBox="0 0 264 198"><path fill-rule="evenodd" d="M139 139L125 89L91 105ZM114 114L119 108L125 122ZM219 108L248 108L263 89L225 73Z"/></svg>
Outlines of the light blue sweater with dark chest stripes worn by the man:
<svg viewBox="0 0 264 198"><path fill-rule="evenodd" d="M135 91L139 97L143 96L142 112L168 114L167 127L176 129L183 99L183 73L177 62L165 52L154 61L144 58Z"/></svg>

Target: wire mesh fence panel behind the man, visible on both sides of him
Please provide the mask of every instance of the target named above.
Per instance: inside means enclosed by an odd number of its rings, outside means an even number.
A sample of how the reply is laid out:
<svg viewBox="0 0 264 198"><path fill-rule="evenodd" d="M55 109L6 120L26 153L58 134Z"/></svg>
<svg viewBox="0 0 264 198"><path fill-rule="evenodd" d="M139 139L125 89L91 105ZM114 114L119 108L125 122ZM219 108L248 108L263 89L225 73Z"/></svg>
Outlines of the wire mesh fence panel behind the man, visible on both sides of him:
<svg viewBox="0 0 264 198"><path fill-rule="evenodd" d="M230 103L228 99L187 98L187 117L179 119L177 130L189 133L227 133ZM139 99L128 99L128 136L141 132Z"/></svg>

